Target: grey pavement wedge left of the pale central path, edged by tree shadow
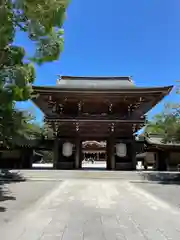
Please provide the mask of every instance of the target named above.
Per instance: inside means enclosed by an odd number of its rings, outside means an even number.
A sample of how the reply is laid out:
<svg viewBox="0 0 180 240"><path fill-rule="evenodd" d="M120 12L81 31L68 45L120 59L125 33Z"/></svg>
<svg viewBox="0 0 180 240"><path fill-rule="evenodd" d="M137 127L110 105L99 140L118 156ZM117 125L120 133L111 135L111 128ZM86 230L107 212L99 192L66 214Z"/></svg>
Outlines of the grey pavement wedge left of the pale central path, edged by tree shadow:
<svg viewBox="0 0 180 240"><path fill-rule="evenodd" d="M16 219L24 210L51 192L59 182L25 181L0 183L0 226ZM0 237L1 239L1 237Z"/></svg>

